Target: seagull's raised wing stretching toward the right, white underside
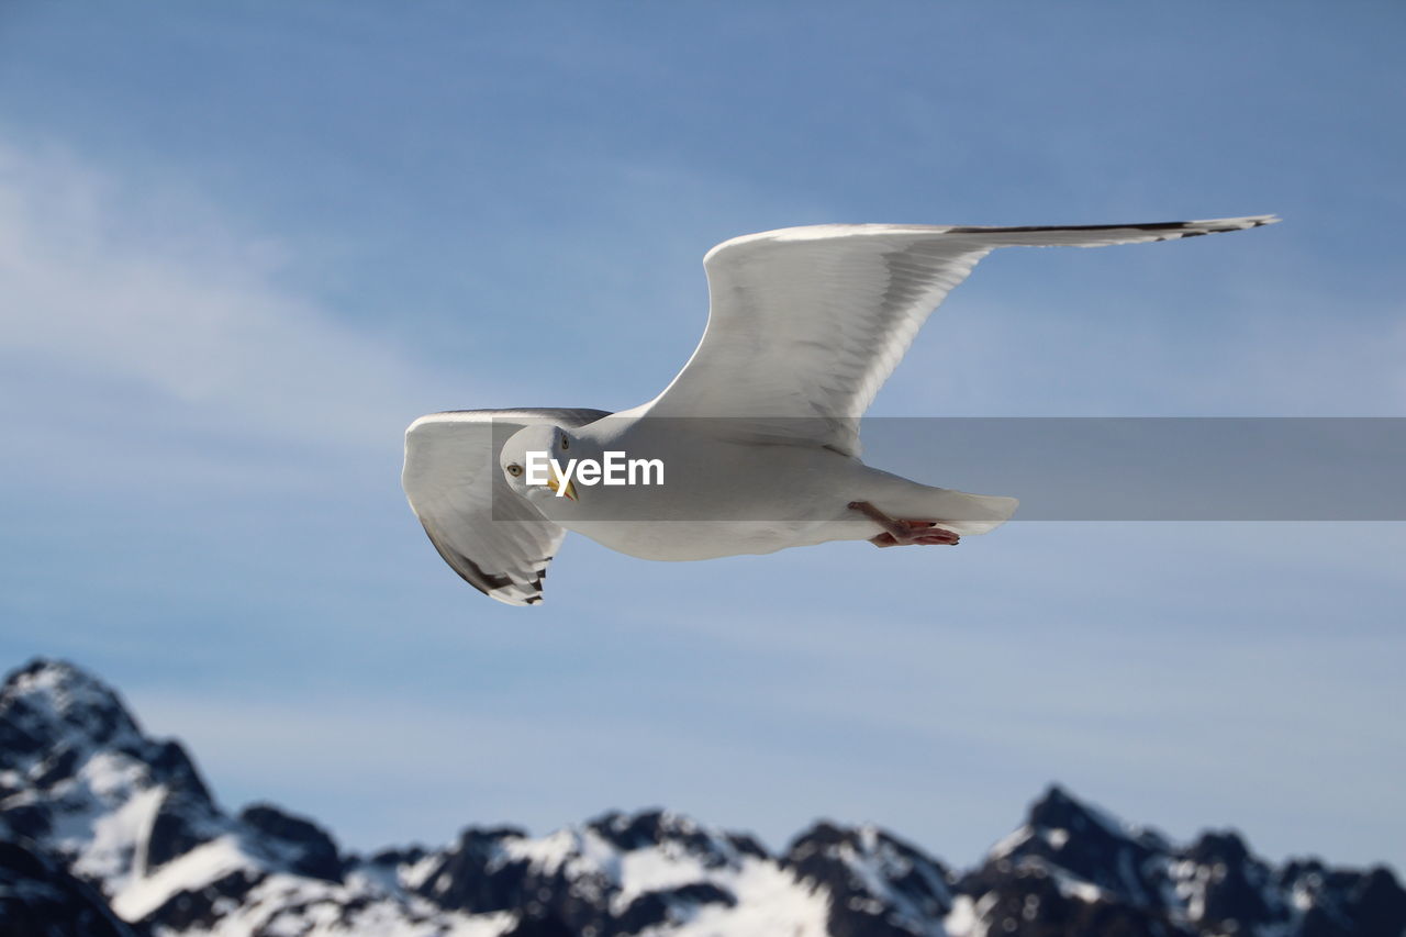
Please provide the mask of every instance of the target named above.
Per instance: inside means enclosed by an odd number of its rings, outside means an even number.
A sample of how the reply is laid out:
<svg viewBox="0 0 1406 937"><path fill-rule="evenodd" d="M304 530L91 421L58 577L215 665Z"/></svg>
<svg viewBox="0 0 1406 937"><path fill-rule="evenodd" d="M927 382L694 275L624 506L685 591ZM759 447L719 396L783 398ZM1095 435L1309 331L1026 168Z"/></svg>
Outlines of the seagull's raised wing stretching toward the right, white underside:
<svg viewBox="0 0 1406 937"><path fill-rule="evenodd" d="M707 329L648 415L758 421L766 426L759 436L779 433L858 456L859 416L922 322L993 249L1174 241L1274 221L814 225L733 238L703 257Z"/></svg>

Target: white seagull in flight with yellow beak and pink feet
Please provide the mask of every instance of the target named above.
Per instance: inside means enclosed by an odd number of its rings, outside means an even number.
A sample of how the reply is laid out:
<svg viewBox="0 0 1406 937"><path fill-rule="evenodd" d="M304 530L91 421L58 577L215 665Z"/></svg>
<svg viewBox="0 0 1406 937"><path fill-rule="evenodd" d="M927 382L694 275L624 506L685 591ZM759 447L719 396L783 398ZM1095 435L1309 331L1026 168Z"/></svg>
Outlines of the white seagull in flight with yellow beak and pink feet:
<svg viewBox="0 0 1406 937"><path fill-rule="evenodd" d="M703 257L703 339L652 401L617 414L420 416L405 432L402 485L444 561L509 605L541 601L568 530L647 560L830 540L955 546L1002 525L1017 499L866 466L859 418L972 267L995 248L1177 241L1275 221L834 224L733 238Z"/></svg>

